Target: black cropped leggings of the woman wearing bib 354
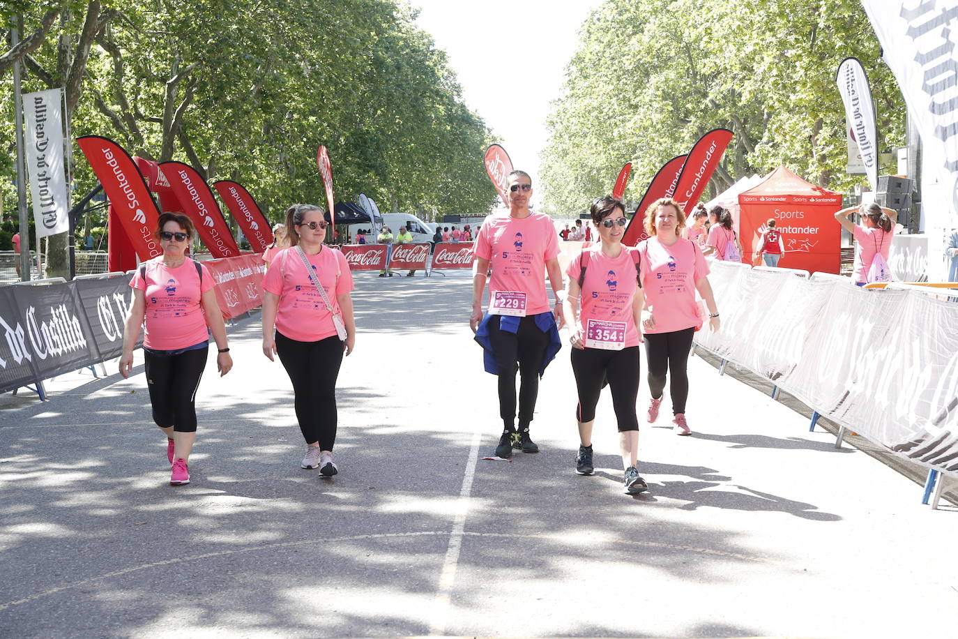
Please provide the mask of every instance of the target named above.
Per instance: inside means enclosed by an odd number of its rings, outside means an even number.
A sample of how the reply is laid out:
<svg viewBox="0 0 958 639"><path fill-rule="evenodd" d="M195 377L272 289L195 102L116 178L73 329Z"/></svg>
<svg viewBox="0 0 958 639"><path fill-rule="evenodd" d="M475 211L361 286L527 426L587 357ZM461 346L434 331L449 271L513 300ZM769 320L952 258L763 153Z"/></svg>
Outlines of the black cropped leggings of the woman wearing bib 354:
<svg viewBox="0 0 958 639"><path fill-rule="evenodd" d="M596 404L608 379L619 432L639 429L635 416L635 400L639 396L639 347L630 346L622 351L572 349L572 373L579 390L578 422L596 419Z"/></svg>

